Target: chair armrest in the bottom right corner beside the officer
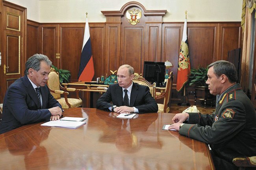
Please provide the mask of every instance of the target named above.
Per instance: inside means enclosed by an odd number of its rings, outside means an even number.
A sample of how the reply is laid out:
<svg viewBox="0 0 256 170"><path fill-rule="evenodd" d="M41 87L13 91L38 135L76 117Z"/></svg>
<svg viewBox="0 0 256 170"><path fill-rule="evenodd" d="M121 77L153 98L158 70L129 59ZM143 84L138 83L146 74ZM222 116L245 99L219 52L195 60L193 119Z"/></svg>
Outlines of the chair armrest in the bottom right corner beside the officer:
<svg viewBox="0 0 256 170"><path fill-rule="evenodd" d="M246 167L256 167L256 156L235 157L233 163L239 167L239 170L246 170Z"/></svg>

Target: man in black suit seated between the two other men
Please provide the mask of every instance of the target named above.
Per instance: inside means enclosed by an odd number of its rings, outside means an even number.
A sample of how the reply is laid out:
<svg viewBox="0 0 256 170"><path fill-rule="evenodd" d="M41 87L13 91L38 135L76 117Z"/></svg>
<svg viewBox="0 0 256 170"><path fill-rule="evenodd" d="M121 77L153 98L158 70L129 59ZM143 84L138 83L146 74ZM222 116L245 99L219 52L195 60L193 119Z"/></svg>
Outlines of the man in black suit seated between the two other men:
<svg viewBox="0 0 256 170"><path fill-rule="evenodd" d="M152 113L158 111L158 105L147 86L132 82L134 68L127 64L117 70L118 84L111 84L98 99L96 107L117 113ZM110 102L112 101L113 104Z"/></svg>

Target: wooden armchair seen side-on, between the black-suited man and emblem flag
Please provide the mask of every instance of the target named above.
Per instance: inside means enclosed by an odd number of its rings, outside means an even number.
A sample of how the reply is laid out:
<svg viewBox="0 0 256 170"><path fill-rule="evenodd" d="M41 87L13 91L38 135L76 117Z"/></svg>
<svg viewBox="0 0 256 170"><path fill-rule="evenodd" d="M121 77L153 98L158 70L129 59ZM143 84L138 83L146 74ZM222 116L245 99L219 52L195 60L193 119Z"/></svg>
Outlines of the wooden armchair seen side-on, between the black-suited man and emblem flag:
<svg viewBox="0 0 256 170"><path fill-rule="evenodd" d="M165 92L161 93L160 95L156 95L156 99L163 99L163 104L158 103L158 112L160 113L169 113L170 102L171 102L171 90L173 88L173 71L169 74L169 77L166 82Z"/></svg>

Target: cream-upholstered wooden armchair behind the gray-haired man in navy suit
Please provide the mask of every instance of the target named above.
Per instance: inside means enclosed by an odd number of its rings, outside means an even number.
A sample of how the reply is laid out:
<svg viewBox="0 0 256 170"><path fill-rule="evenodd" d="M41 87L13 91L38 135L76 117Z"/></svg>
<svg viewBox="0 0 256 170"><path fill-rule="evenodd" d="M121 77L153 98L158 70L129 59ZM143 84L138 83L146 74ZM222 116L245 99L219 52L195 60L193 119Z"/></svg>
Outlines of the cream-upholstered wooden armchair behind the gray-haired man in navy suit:
<svg viewBox="0 0 256 170"><path fill-rule="evenodd" d="M49 73L47 86L53 97L61 104L63 109L82 106L82 99L80 99L78 95L79 90L75 88L62 87L59 83L59 74L54 70L54 68L51 68ZM69 92L67 91L76 92L76 98L68 98ZM64 97L61 97L61 95L64 95Z"/></svg>

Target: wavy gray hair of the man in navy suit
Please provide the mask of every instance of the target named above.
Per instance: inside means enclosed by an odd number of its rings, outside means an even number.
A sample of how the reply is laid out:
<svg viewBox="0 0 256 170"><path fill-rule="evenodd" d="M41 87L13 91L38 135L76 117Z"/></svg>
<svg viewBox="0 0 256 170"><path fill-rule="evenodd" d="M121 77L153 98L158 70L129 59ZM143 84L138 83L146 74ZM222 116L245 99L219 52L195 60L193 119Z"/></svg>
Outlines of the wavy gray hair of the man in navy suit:
<svg viewBox="0 0 256 170"><path fill-rule="evenodd" d="M52 62L46 55L34 54L32 57L28 58L25 64L25 75L28 75L28 69L32 68L35 71L40 69L41 61L44 61L48 66L52 65Z"/></svg>

